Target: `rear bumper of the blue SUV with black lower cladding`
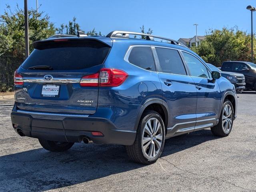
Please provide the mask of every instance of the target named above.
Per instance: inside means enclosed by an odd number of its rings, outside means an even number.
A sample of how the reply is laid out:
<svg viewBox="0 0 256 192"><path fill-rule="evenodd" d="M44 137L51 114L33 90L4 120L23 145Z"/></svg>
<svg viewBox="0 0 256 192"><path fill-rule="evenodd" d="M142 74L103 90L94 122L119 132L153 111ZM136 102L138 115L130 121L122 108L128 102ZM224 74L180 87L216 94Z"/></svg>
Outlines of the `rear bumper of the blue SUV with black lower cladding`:
<svg viewBox="0 0 256 192"><path fill-rule="evenodd" d="M81 142L90 138L96 144L132 145L136 131L120 130L108 119L96 117L64 117L62 120L34 118L13 110L13 128L22 131L24 136L62 142ZM104 136L93 136L92 131L102 132Z"/></svg>

